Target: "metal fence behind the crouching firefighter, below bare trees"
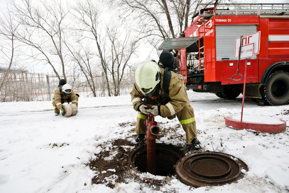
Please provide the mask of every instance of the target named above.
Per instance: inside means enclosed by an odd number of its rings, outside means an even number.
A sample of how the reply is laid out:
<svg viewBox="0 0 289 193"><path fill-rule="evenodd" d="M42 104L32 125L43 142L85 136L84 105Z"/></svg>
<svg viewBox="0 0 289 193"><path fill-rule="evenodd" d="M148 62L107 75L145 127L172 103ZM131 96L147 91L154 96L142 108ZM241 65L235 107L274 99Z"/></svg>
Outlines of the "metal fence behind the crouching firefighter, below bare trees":
<svg viewBox="0 0 289 193"><path fill-rule="evenodd" d="M84 74L66 75L66 82L72 86L75 93L80 97L107 97L108 87L106 76L102 74L94 74L92 81L88 81ZM0 90L0 102L12 101L50 101L54 96L55 90L58 88L59 79L55 75L35 74L28 72L10 72L4 79L4 73L0 72L0 82L4 82ZM117 93L114 89L112 74L108 75L108 83L110 86L111 96ZM119 88L119 94L127 95L134 84L134 71L130 71L123 75Z"/></svg>

